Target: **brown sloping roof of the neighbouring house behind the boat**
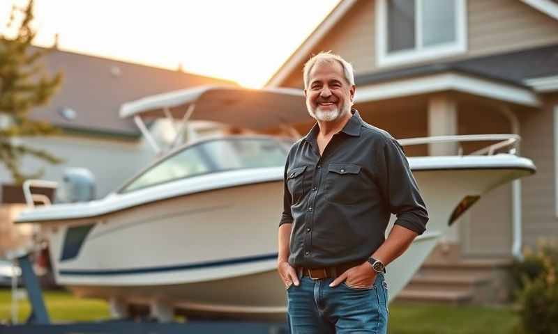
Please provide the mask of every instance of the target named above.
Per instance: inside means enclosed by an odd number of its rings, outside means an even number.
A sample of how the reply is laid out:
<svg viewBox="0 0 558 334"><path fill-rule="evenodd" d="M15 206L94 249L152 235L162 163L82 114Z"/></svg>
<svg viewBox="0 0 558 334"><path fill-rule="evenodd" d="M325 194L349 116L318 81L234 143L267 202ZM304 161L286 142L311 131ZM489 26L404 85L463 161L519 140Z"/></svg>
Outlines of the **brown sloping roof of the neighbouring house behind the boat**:
<svg viewBox="0 0 558 334"><path fill-rule="evenodd" d="M47 72L63 72L63 83L50 103L33 109L29 117L70 133L135 138L140 136L140 130L133 120L119 117L124 102L206 84L238 86L233 81L59 49L53 49L41 61Z"/></svg>

